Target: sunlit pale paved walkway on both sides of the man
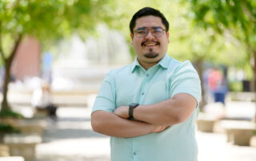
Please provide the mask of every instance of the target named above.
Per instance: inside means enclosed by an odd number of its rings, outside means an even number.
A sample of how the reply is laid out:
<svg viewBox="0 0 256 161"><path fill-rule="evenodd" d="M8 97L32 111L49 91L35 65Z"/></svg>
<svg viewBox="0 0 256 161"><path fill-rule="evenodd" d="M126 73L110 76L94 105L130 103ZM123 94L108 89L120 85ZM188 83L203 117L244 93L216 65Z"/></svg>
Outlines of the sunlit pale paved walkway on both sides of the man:
<svg viewBox="0 0 256 161"><path fill-rule="evenodd" d="M90 109L59 108L46 129L36 161L110 161L109 137L93 132ZM255 161L256 147L226 143L226 135L197 132L198 161ZM185 155L185 154L184 154Z"/></svg>

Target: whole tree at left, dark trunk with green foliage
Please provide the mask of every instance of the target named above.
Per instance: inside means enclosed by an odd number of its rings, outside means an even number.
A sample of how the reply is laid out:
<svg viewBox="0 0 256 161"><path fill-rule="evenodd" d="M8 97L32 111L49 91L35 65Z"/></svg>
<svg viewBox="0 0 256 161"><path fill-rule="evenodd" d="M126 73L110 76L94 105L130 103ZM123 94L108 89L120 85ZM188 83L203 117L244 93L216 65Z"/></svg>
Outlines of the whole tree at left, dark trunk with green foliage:
<svg viewBox="0 0 256 161"><path fill-rule="evenodd" d="M1 113L11 112L7 100L10 68L22 38L46 42L78 33L86 37L101 19L101 6L94 0L0 0L0 55L5 67Z"/></svg>

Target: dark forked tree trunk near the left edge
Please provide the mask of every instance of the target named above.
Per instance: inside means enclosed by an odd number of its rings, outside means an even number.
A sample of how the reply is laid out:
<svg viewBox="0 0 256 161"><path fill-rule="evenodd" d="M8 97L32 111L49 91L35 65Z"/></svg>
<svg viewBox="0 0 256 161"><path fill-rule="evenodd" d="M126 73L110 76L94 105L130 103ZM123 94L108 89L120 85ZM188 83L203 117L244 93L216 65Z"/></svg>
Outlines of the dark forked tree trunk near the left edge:
<svg viewBox="0 0 256 161"><path fill-rule="evenodd" d="M10 53L10 56L4 60L4 65L5 65L5 81L3 84L3 91L2 91L2 104L1 104L1 112L5 111L11 111L10 105L7 100L7 94L8 94L8 84L10 82L10 69L11 69L11 64L14 61L15 54L17 53L18 45L22 41L22 35L18 36L18 39L15 41L14 44L14 49ZM3 54L2 54L3 55ZM4 58L4 57L3 57Z"/></svg>

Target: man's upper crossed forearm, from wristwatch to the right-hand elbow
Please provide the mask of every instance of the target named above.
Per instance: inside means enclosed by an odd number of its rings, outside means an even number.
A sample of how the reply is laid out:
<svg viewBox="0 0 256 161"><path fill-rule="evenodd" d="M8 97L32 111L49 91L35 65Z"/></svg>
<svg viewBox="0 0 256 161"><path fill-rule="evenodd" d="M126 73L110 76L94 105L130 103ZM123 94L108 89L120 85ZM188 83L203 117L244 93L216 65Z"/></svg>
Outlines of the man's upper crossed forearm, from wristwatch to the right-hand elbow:
<svg viewBox="0 0 256 161"><path fill-rule="evenodd" d="M134 108L134 118L149 124L174 125L188 119L196 106L197 101L193 96L180 93L157 104Z"/></svg>

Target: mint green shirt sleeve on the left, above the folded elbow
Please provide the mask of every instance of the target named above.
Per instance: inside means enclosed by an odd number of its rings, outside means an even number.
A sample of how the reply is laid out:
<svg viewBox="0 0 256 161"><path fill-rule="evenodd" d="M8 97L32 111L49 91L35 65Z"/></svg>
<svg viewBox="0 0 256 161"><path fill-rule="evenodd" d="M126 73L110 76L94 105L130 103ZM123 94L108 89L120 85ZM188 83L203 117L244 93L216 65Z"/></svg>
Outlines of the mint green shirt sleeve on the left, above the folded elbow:
<svg viewBox="0 0 256 161"><path fill-rule="evenodd" d="M115 83L114 72L106 74L101 88L98 92L98 96L94 102L92 113L97 110L103 110L106 112L114 112L115 109Z"/></svg>

